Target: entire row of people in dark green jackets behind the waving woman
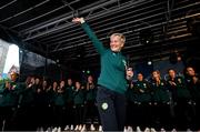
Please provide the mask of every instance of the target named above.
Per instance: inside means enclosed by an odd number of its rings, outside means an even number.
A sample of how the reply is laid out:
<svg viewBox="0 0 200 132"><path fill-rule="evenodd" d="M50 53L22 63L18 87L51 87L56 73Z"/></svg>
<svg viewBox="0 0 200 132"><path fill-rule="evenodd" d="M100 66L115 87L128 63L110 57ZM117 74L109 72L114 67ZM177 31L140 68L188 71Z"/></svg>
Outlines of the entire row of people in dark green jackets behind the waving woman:
<svg viewBox="0 0 200 132"><path fill-rule="evenodd" d="M137 73L137 80L127 85L126 128L154 128L156 130L200 129L200 80L192 67L186 68L183 77L169 69L168 79L158 70L150 80ZM52 83L51 83L52 82ZM49 126L61 130L92 130L98 122L97 83L88 75L86 83L71 78L47 81L28 77L0 84L0 126L2 130L37 130ZM98 128L99 129L99 128Z"/></svg>

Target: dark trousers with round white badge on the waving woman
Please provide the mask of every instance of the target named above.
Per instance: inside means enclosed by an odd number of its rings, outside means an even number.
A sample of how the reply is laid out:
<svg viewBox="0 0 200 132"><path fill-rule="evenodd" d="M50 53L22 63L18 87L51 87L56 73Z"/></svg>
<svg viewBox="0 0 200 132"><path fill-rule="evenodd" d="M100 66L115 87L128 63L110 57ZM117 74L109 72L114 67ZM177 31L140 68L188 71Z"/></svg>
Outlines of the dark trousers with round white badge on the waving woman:
<svg viewBox="0 0 200 132"><path fill-rule="evenodd" d="M126 97L104 87L98 87L97 105L103 131L123 131Z"/></svg>

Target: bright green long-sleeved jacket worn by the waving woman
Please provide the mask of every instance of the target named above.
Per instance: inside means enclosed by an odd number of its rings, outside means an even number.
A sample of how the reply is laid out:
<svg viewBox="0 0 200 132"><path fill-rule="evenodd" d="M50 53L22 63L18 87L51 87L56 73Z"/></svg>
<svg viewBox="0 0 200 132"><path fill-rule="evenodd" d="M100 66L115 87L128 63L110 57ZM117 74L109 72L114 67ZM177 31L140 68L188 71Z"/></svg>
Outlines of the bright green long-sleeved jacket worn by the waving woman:
<svg viewBox="0 0 200 132"><path fill-rule="evenodd" d="M112 52L110 49L106 49L87 22L82 23L81 27L100 54L101 73L98 79L98 84L124 94L127 91L126 58L121 52Z"/></svg>

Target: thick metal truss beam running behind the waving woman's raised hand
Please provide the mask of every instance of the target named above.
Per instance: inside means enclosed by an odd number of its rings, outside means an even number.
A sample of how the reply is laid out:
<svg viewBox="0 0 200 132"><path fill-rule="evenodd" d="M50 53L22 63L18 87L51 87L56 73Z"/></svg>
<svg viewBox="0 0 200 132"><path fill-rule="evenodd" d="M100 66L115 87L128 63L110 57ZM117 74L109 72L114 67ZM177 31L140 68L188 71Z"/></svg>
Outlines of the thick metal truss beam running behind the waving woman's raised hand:
<svg viewBox="0 0 200 132"><path fill-rule="evenodd" d="M50 33L56 32L56 31L63 30L67 27L71 27L72 23L69 21L71 21L71 19L76 16L88 14L87 19L92 20L92 17L94 19L94 16L96 17L100 17L100 16L104 17L106 13L108 14L109 12L112 12L114 10L119 10L119 8L122 9L119 0L109 0L106 2L104 2L104 0L101 0L101 1L102 1L102 3L100 3L100 1L98 1L98 2L93 3L96 6L92 6L92 7L90 6L90 8L83 7L81 9L76 10L76 11L68 12L67 14L63 14L61 17L54 18L53 20L49 20L49 21L46 21L44 23L41 23L39 26L26 29L26 30L21 31L20 34L23 35L24 41L28 41L28 40L32 40L36 38L40 38L40 37L50 34ZM131 0L129 2L132 4L137 4L137 3L142 2L142 1L146 1L146 0L138 0L138 1ZM113 6L109 9L108 6L113 4L113 3L118 3L118 4ZM92 13L96 10L101 10L100 11L101 13L99 13L99 12L96 14Z"/></svg>

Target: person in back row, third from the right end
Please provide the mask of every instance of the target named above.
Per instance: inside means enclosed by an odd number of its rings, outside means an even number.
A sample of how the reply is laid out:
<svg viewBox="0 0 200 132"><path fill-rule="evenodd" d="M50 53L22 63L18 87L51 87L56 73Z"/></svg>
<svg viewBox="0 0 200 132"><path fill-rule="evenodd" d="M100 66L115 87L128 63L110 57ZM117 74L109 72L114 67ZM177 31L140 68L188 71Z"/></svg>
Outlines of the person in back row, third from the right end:
<svg viewBox="0 0 200 132"><path fill-rule="evenodd" d="M160 71L152 72L152 80L150 81L153 102L153 119L154 128L169 129L170 120L170 92L166 80L161 79ZM157 124L156 124L157 123Z"/></svg>

